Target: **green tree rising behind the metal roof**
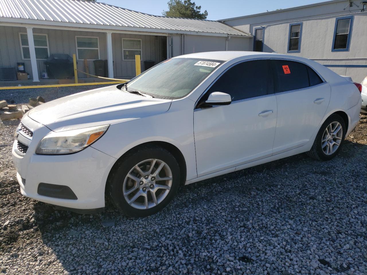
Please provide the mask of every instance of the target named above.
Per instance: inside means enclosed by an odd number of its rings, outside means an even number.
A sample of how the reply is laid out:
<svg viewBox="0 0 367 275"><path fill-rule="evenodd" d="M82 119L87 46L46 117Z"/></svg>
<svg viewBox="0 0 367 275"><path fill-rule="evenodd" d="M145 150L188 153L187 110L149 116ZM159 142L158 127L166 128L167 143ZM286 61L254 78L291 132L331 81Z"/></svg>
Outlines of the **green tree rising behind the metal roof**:
<svg viewBox="0 0 367 275"><path fill-rule="evenodd" d="M164 16L206 19L208 12L200 12L201 6L195 6L191 0L170 0L168 11L163 11Z"/></svg>

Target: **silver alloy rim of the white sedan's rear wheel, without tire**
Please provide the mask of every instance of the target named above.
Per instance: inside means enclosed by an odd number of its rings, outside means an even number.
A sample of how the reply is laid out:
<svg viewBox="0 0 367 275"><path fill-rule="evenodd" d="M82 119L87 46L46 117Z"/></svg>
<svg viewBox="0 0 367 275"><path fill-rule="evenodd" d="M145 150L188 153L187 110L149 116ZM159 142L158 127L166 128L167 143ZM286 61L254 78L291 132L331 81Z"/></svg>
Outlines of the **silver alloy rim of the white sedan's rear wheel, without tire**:
<svg viewBox="0 0 367 275"><path fill-rule="evenodd" d="M326 155L334 154L342 142L343 128L338 121L331 122L325 129L321 147Z"/></svg>

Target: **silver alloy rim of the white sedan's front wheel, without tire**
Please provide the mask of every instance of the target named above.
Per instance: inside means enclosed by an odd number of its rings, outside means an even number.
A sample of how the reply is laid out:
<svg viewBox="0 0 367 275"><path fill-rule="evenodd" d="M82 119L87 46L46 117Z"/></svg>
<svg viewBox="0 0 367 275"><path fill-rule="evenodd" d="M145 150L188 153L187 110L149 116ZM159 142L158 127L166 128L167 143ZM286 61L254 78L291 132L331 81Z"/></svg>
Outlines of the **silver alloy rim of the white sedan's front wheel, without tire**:
<svg viewBox="0 0 367 275"><path fill-rule="evenodd" d="M149 209L164 200L172 186L172 171L166 162L146 159L128 172L123 194L127 203L136 209Z"/></svg>

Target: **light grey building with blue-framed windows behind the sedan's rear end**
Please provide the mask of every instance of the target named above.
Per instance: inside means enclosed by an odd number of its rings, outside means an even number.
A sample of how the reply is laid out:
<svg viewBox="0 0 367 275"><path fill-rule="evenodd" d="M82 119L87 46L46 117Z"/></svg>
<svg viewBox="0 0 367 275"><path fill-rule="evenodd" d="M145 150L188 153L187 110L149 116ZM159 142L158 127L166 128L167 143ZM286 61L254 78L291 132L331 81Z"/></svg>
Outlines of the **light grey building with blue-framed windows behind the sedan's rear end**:
<svg viewBox="0 0 367 275"><path fill-rule="evenodd" d="M313 59L361 83L367 76L367 2L333 0L220 20L251 33L251 50Z"/></svg>

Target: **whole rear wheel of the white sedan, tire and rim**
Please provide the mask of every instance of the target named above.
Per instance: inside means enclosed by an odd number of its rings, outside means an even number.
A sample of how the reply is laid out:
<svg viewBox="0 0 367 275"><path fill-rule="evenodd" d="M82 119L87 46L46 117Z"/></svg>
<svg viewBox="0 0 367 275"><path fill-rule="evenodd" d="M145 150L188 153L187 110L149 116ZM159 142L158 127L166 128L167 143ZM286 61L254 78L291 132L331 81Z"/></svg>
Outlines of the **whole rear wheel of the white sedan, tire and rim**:
<svg viewBox="0 0 367 275"><path fill-rule="evenodd" d="M346 134L346 127L340 115L333 114L321 126L315 142L307 154L317 160L327 161L338 154Z"/></svg>

